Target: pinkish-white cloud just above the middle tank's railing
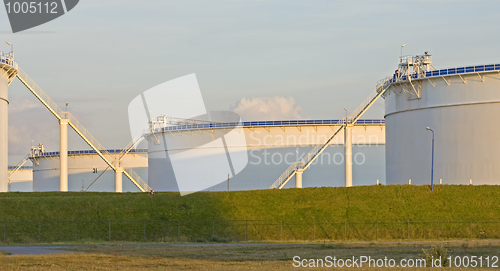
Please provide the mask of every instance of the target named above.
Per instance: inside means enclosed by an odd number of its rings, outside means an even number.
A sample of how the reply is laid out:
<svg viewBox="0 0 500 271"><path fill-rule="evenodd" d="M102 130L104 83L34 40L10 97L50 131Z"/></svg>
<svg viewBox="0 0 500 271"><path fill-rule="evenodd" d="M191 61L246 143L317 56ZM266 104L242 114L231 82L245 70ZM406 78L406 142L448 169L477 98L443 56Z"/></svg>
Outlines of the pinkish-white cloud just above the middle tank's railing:
<svg viewBox="0 0 500 271"><path fill-rule="evenodd" d="M242 98L233 108L242 120L290 120L302 119L302 108L293 97Z"/></svg>

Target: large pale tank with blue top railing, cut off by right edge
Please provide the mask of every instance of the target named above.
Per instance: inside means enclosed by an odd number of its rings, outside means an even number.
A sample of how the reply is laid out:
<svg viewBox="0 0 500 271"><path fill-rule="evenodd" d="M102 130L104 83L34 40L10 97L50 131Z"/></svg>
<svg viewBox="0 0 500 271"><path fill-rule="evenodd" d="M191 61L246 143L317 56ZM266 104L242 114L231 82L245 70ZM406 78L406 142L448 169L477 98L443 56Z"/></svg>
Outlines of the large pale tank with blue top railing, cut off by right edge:
<svg viewBox="0 0 500 271"><path fill-rule="evenodd" d="M430 184L433 167L434 184L500 184L499 72L459 67L393 83L384 97L387 183Z"/></svg>

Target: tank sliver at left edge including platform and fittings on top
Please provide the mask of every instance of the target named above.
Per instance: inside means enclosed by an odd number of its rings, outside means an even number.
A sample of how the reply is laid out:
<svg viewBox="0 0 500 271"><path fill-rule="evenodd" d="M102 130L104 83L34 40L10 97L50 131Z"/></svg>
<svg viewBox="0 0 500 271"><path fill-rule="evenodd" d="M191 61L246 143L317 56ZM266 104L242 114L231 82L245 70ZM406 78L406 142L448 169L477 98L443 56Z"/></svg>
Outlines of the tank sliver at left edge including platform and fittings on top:
<svg viewBox="0 0 500 271"><path fill-rule="evenodd" d="M8 87L17 73L17 63L14 62L14 52L0 52L0 192L7 192L8 181L8 128L9 128L9 91Z"/></svg>

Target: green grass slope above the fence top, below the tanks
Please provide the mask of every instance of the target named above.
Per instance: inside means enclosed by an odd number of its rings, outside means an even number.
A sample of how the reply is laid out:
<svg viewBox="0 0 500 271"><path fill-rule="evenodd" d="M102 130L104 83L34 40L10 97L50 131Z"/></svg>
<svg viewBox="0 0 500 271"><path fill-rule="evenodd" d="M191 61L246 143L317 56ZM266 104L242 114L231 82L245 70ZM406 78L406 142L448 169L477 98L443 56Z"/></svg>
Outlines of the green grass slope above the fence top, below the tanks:
<svg viewBox="0 0 500 271"><path fill-rule="evenodd" d="M500 186L389 185L237 192L1 193L0 221L500 218Z"/></svg>

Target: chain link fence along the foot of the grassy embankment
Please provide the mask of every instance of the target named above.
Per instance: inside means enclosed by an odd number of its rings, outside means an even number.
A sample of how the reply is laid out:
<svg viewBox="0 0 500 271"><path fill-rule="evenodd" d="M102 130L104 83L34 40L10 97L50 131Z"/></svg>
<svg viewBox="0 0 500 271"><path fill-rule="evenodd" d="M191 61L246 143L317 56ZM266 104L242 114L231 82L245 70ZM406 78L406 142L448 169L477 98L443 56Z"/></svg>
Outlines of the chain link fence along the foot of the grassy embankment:
<svg viewBox="0 0 500 271"><path fill-rule="evenodd" d="M0 242L243 242L500 239L500 220L479 221L19 221L0 222Z"/></svg>

